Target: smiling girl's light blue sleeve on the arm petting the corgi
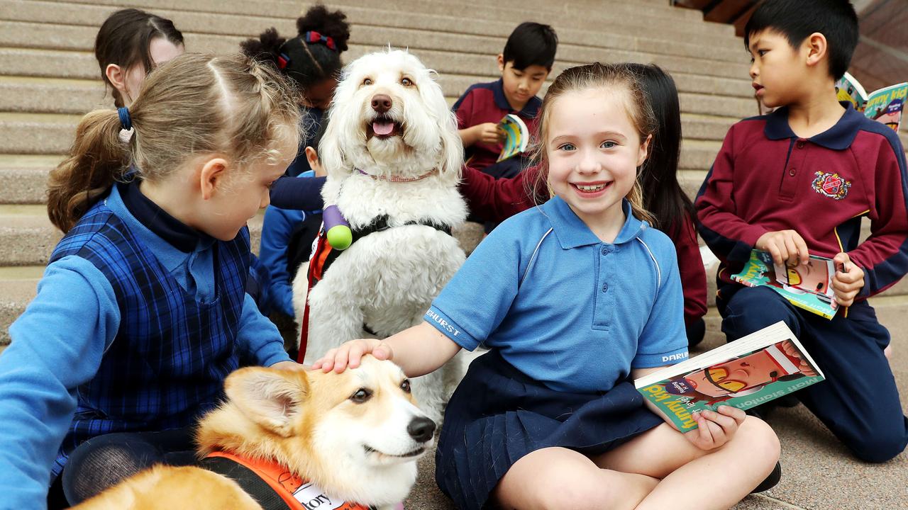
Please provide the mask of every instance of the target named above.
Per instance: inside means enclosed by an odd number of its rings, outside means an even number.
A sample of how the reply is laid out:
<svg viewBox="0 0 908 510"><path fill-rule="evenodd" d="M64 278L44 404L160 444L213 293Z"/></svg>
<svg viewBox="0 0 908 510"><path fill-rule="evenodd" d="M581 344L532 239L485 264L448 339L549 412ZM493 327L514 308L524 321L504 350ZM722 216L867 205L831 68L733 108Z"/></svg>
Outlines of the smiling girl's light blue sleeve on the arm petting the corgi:
<svg viewBox="0 0 908 510"><path fill-rule="evenodd" d="M492 230L423 317L462 348L473 350L489 338L517 298L520 245L515 226L506 221Z"/></svg>

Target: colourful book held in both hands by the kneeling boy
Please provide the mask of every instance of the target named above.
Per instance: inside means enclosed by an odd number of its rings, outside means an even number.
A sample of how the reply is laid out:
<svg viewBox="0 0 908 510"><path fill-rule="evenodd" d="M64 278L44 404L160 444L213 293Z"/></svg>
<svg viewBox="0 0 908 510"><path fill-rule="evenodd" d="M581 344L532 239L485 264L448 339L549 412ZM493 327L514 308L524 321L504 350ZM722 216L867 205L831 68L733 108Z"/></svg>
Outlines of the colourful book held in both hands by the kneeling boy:
<svg viewBox="0 0 908 510"><path fill-rule="evenodd" d="M834 275L832 259L811 255L806 266L786 268L775 265L768 252L751 250L750 260L732 280L747 287L767 285L796 307L832 319L839 308L832 287Z"/></svg>

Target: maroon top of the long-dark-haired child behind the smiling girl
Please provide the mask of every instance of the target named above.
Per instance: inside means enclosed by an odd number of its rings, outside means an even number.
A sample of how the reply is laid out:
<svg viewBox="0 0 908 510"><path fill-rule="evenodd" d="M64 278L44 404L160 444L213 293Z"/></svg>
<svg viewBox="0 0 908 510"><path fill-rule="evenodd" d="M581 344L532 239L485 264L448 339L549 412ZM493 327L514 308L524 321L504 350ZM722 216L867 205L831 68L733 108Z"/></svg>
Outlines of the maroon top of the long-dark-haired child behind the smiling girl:
<svg viewBox="0 0 908 510"><path fill-rule="evenodd" d="M505 221L520 211L533 207L531 184L538 166L531 166L524 172L509 179L495 179L474 168L463 168L460 192L469 202L469 210L489 221ZM542 185L539 203L548 200L548 189ZM685 216L666 229L666 234L675 243L678 257L678 272L684 291L684 321L690 325L706 315L706 270L696 240L693 218Z"/></svg>

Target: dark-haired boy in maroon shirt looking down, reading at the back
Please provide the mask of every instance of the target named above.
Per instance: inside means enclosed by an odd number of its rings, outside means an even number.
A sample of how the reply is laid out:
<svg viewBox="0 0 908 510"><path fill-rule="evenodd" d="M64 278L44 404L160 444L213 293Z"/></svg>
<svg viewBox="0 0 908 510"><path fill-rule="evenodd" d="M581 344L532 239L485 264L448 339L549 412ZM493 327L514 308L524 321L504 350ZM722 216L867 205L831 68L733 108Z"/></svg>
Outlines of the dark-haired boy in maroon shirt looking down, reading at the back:
<svg viewBox="0 0 908 510"><path fill-rule="evenodd" d="M552 70L557 49L558 35L551 26L518 25L508 36L504 53L498 54L501 78L470 85L454 103L469 166L493 177L513 177L520 172L521 157L496 163L502 148L498 122L508 113L516 113L535 134L536 114L542 105L536 94Z"/></svg>

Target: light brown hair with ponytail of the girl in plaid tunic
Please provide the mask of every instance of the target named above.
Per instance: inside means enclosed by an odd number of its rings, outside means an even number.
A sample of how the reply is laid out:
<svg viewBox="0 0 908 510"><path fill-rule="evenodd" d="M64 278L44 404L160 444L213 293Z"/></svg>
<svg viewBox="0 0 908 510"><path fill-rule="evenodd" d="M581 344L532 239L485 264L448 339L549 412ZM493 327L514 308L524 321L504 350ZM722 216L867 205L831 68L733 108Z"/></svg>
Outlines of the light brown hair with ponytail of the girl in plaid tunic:
<svg viewBox="0 0 908 510"><path fill-rule="evenodd" d="M240 54L183 54L161 65L129 113L133 132L126 142L115 110L88 113L76 128L47 190L47 214L60 230L72 229L127 170L131 178L160 181L192 158L214 153L249 168L277 157L278 147L297 146L301 137L290 86Z"/></svg>

